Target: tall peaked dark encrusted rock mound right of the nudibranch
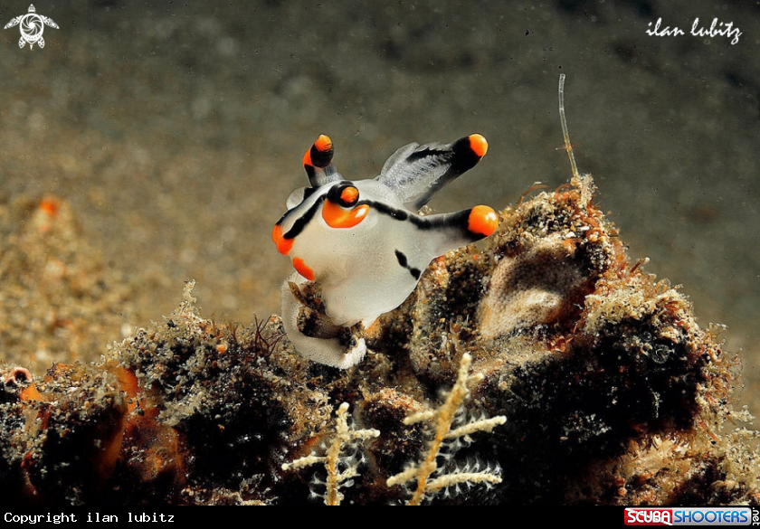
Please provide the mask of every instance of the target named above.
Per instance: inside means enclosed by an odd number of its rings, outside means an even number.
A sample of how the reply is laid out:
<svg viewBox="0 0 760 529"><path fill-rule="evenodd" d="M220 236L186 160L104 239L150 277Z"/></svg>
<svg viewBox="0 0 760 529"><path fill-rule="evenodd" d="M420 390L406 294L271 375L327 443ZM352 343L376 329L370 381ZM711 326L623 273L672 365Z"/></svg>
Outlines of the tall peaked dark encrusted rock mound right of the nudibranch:
<svg viewBox="0 0 760 529"><path fill-rule="evenodd" d="M507 417L495 438L508 503L617 503L617 493L572 496L570 484L594 479L594 493L608 491L619 479L597 474L601 462L652 439L712 441L727 411L731 361L682 294L629 262L593 192L578 177L502 212L486 250L433 263L404 308L421 380L451 383L464 352L485 375L470 408ZM681 457L666 459L679 468Z"/></svg>

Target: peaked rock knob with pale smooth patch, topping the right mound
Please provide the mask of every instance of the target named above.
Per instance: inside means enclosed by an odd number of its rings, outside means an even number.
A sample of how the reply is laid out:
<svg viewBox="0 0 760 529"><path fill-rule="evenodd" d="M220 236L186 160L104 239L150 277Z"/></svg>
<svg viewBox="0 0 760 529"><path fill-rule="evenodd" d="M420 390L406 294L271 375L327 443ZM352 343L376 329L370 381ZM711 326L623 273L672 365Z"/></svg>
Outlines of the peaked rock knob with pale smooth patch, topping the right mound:
<svg viewBox="0 0 760 529"><path fill-rule="evenodd" d="M492 241L499 262L478 310L488 341L575 322L596 279L625 260L616 232L591 203L590 178L575 184L518 207Z"/></svg>

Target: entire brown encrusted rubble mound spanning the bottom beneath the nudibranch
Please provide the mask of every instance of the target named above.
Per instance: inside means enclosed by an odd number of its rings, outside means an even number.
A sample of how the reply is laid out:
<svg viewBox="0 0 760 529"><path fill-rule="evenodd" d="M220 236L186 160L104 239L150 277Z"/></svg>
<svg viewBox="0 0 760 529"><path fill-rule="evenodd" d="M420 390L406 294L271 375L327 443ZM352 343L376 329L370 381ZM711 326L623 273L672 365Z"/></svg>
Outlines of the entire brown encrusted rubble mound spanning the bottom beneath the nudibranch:
<svg viewBox="0 0 760 529"><path fill-rule="evenodd" d="M575 177L501 212L489 241L434 260L347 371L301 358L278 316L204 318L192 283L98 364L3 364L5 497L305 503L315 467L294 462L327 462L336 431L347 444L364 431L366 465L332 454L334 477L353 480L341 498L404 502L393 477L420 462L425 420L471 359L481 374L462 408L505 420L456 458L498 465L501 483L433 503L756 504L757 435L726 428L748 415L731 405L736 359L677 288L629 261L593 193Z"/></svg>

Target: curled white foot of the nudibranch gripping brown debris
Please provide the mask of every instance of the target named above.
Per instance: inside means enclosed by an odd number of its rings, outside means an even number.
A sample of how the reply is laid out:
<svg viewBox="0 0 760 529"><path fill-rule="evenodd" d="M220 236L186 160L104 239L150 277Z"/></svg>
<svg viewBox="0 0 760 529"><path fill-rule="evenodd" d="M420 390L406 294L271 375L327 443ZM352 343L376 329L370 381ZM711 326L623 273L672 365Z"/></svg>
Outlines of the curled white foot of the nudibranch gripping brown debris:
<svg viewBox="0 0 760 529"><path fill-rule="evenodd" d="M340 369L358 364L366 354L364 326L335 325L304 296L301 286L307 284L312 285L299 274L282 284L282 323L290 342L299 354L319 364Z"/></svg>

